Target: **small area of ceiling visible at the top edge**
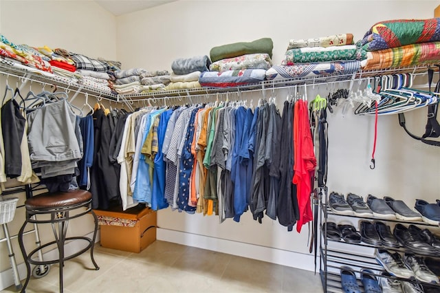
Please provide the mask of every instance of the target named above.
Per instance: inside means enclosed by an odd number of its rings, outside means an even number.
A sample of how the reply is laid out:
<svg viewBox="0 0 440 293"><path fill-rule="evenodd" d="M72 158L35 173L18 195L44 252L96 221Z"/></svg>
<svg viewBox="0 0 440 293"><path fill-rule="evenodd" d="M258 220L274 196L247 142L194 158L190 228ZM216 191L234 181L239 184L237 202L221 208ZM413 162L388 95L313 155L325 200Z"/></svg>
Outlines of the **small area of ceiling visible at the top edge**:
<svg viewBox="0 0 440 293"><path fill-rule="evenodd" d="M174 1L177 0L100 0L96 1L96 3L102 6L102 8L109 10L115 16L119 16Z"/></svg>

